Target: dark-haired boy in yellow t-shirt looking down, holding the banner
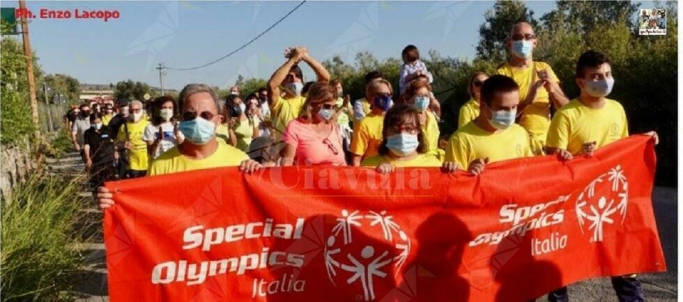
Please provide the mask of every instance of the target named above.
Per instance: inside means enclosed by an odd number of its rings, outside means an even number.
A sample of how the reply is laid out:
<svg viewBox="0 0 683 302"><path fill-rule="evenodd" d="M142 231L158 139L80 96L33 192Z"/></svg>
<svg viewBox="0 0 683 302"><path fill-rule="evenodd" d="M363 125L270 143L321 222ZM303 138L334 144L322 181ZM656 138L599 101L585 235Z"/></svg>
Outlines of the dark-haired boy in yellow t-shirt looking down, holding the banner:
<svg viewBox="0 0 683 302"><path fill-rule="evenodd" d="M446 145L445 161L454 161L473 175L484 165L533 156L529 134L514 123L519 86L514 79L494 75L482 84L479 116L458 129Z"/></svg>

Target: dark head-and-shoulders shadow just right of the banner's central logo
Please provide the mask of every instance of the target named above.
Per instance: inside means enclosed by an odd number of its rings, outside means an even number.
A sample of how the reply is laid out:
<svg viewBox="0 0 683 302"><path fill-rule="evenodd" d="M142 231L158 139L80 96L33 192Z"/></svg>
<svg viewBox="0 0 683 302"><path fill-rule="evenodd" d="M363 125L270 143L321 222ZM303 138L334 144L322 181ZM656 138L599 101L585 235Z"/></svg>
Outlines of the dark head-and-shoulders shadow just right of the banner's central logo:
<svg viewBox="0 0 683 302"><path fill-rule="evenodd" d="M402 269L403 281L378 301L468 301L470 285L458 274L472 234L448 212L432 214L417 228L419 248Z"/></svg>

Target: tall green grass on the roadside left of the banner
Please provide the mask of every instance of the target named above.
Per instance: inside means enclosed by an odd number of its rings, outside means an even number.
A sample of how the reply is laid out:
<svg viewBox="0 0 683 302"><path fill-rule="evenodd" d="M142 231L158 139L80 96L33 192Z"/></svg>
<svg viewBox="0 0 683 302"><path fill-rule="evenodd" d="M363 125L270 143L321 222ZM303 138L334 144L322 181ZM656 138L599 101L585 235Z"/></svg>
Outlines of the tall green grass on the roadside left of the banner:
<svg viewBox="0 0 683 302"><path fill-rule="evenodd" d="M2 301L70 301L84 255L82 177L33 175L2 200Z"/></svg>

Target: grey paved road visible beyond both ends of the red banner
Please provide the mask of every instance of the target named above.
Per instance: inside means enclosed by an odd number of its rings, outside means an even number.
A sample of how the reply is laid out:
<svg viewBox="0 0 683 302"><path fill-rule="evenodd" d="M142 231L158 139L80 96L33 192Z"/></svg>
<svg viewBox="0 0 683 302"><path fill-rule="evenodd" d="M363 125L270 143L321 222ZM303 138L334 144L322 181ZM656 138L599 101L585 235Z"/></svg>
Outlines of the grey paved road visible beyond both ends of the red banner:
<svg viewBox="0 0 683 302"><path fill-rule="evenodd" d="M82 171L75 154L51 165L61 173L75 174ZM84 192L83 195L91 195ZM654 189L652 202L657 217L659 237L666 257L668 271L666 273L643 274L639 278L643 282L645 296L650 302L677 301L677 190L665 187ZM93 200L86 209L86 216L91 221L99 221L102 212ZM83 268L85 282L78 286L82 297L77 301L109 301L107 297L107 267L105 249L101 235L101 224L95 223L98 229L89 230L95 235L92 242L84 243L80 248L88 255L88 264ZM628 246L624 246L628 248ZM586 280L569 287L571 301L617 301L608 278ZM539 299L538 301L544 301Z"/></svg>

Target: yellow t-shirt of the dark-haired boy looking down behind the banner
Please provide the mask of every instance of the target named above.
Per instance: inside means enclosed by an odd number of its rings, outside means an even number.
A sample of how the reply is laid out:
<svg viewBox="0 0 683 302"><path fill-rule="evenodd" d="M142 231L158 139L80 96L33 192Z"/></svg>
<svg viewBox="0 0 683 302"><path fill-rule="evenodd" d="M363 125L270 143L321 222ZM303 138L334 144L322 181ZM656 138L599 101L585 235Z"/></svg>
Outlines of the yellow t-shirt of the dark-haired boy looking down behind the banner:
<svg viewBox="0 0 683 302"><path fill-rule="evenodd" d="M475 122L458 129L446 146L445 161L467 169L475 159L489 157L489 163L533 156L529 134L517 124L498 133L487 132Z"/></svg>

